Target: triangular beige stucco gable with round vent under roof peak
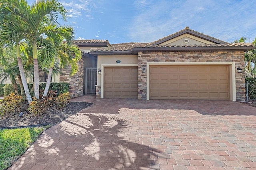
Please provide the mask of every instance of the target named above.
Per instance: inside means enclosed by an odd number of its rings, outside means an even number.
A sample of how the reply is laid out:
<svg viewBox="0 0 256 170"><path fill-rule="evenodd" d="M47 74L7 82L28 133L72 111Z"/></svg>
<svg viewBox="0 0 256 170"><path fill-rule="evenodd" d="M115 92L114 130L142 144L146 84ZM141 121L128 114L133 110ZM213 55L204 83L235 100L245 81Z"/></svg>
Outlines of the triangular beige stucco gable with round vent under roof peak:
<svg viewBox="0 0 256 170"><path fill-rule="evenodd" d="M183 42L184 39L188 39L189 42L184 43ZM161 43L160 45L195 45L195 44L201 45L201 44L215 44L215 43L212 43L210 41L206 41L204 39L200 39L198 37L195 37L193 35L185 33L185 34L180 35L176 38L165 41L165 42Z"/></svg>

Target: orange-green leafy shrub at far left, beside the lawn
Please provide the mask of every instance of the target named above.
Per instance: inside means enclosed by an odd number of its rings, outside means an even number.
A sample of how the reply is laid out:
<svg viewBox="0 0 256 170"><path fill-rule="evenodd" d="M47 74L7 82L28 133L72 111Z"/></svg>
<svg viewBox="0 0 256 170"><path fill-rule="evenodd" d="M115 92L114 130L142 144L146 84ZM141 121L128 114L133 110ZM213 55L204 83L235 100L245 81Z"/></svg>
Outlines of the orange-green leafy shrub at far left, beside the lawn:
<svg viewBox="0 0 256 170"><path fill-rule="evenodd" d="M22 96L11 93L0 102L0 115L10 116L20 112L25 99Z"/></svg>

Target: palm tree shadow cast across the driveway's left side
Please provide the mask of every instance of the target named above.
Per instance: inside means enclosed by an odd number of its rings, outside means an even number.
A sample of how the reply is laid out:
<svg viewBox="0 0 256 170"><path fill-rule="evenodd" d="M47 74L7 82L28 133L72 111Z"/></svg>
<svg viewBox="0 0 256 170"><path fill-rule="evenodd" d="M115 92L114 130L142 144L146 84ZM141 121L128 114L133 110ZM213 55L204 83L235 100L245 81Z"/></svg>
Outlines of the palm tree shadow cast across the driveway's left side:
<svg viewBox="0 0 256 170"><path fill-rule="evenodd" d="M158 166L155 158L161 158L164 150L142 145L130 129L125 120L111 115L79 113L46 130L10 169L41 164L88 169L154 169L152 166Z"/></svg>

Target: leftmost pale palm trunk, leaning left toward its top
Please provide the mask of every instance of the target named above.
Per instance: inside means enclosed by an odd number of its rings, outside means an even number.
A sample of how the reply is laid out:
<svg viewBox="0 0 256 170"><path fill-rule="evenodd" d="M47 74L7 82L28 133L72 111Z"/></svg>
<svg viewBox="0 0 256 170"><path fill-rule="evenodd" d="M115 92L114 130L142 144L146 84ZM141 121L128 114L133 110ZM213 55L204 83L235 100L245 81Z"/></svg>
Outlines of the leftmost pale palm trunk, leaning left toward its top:
<svg viewBox="0 0 256 170"><path fill-rule="evenodd" d="M16 45L16 55L17 55L17 61L18 61L18 67L20 70L20 76L21 76L21 80L22 80L22 84L24 87L24 91L28 100L28 104L30 104L32 102L32 98L28 89L28 84L27 84L27 80L26 80L26 76L25 76L25 72L24 72L24 68L23 68L23 64L20 58L20 46L19 44Z"/></svg>

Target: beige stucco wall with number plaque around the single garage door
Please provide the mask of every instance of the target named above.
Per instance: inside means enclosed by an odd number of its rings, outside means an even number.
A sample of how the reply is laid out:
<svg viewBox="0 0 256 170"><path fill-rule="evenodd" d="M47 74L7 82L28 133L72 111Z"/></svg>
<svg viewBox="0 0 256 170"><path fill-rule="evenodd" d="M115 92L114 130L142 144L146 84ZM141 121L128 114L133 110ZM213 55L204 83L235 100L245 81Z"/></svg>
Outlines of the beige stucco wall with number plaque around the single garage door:
<svg viewBox="0 0 256 170"><path fill-rule="evenodd" d="M121 63L116 63L116 61L121 61ZM102 70L102 74L104 71L104 66L124 66L125 64L138 64L138 56L137 55L98 55L98 69ZM101 86L101 76L97 76L97 85Z"/></svg>

